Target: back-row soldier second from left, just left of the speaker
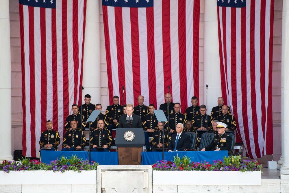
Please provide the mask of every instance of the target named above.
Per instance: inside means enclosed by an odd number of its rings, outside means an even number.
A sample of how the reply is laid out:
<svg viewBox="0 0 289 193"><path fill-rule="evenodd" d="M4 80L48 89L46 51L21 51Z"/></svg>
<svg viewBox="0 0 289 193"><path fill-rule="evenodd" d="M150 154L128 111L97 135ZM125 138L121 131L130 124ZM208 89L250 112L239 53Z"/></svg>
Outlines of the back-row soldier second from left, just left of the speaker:
<svg viewBox="0 0 289 193"><path fill-rule="evenodd" d="M105 115L108 116L108 129L111 131L116 128L117 118L123 114L123 106L119 104L119 97L113 97L113 104L106 108Z"/></svg>

